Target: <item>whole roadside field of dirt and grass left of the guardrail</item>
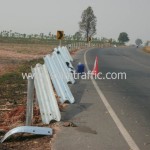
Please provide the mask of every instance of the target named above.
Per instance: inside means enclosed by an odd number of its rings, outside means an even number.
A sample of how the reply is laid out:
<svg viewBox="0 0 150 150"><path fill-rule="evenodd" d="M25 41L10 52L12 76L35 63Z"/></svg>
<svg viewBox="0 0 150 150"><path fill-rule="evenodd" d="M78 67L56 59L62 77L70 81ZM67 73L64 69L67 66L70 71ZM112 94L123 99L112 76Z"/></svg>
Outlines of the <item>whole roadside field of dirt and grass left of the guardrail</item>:
<svg viewBox="0 0 150 150"><path fill-rule="evenodd" d="M43 63L43 56L54 46L40 44L0 44L0 138L8 130L25 124L27 80L22 73L31 72L31 66ZM41 122L39 109L34 108L34 125ZM28 138L27 138L28 137ZM50 149L51 138L18 136L0 144L0 149ZM41 145L39 143L45 143Z"/></svg>

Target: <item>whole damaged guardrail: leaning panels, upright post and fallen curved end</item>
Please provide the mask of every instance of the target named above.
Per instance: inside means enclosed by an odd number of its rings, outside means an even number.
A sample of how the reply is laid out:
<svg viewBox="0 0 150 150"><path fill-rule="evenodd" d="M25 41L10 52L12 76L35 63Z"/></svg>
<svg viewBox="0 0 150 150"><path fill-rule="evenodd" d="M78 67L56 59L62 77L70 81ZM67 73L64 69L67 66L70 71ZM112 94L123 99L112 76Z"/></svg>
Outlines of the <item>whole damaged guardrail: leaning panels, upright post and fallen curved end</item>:
<svg viewBox="0 0 150 150"><path fill-rule="evenodd" d="M1 143L15 133L52 135L53 132L51 128L31 126L33 118L34 87L42 122L44 124L49 124L51 120L60 121L61 114L58 101L61 103L65 101L69 101L70 103L75 102L67 84L68 82L72 84L75 83L71 73L74 70L71 64L73 59L67 48L58 47L58 49L54 50L52 55L46 55L44 61L45 64L37 64L34 68L31 68L34 79L31 77L28 78L26 126L17 127L7 132L1 139ZM69 63L69 65L67 65L67 63ZM56 99L54 88L59 100Z"/></svg>

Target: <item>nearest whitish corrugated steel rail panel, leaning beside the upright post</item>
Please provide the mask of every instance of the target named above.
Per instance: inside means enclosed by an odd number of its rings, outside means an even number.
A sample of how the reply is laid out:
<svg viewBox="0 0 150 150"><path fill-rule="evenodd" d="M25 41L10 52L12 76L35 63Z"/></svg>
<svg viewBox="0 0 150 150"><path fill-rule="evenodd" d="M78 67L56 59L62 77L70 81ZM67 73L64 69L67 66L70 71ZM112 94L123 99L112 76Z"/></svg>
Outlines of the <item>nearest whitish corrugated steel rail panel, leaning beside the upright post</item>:
<svg viewBox="0 0 150 150"><path fill-rule="evenodd" d="M32 73L35 74L34 85L42 122L49 124L51 120L60 121L60 111L45 64L37 64L32 68Z"/></svg>

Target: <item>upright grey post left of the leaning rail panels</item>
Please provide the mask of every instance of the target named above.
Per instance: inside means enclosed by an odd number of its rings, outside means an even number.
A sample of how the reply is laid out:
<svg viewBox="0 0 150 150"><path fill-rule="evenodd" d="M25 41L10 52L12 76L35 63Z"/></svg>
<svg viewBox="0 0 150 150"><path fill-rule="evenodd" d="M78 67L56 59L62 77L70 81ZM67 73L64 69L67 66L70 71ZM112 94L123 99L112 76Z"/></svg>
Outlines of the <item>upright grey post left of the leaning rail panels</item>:
<svg viewBox="0 0 150 150"><path fill-rule="evenodd" d="M29 77L27 86L26 126L30 126L32 124L33 99L34 99L34 80L31 77Z"/></svg>

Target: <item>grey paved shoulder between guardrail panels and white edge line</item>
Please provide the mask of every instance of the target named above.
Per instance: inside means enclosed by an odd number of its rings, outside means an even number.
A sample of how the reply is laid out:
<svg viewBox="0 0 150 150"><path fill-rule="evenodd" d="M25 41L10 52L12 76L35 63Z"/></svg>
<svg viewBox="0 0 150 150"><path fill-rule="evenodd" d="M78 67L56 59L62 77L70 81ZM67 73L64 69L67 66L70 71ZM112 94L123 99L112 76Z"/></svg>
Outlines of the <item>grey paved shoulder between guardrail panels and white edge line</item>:
<svg viewBox="0 0 150 150"><path fill-rule="evenodd" d="M74 65L84 63L84 50L74 57ZM78 80L71 87L76 99L62 112L62 122L69 121L77 127L63 127L53 145L54 150L127 150L129 149L115 123L107 112L91 80Z"/></svg>

